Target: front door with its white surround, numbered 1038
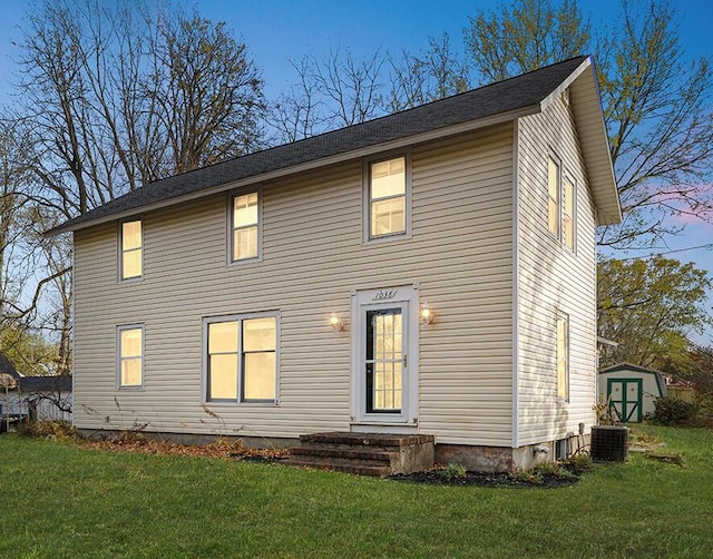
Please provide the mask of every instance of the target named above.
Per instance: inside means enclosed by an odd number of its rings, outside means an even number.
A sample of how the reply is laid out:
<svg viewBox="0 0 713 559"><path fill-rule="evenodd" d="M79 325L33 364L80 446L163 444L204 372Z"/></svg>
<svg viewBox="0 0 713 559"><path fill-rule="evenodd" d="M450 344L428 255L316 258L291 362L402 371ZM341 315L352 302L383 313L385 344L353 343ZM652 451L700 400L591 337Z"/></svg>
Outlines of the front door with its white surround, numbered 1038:
<svg viewBox="0 0 713 559"><path fill-rule="evenodd" d="M352 402L354 423L414 424L418 332L413 287L355 296ZM418 302L418 300L416 300ZM418 324L418 316L416 316Z"/></svg>

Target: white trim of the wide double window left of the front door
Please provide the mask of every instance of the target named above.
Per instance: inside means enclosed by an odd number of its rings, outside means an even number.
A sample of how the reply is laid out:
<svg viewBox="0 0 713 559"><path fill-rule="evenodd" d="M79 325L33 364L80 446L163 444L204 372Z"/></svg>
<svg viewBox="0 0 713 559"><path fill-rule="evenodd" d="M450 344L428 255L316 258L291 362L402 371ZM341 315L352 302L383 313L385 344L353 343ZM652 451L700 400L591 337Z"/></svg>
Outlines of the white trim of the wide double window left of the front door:
<svg viewBox="0 0 713 559"><path fill-rule="evenodd" d="M208 398L208 325L221 322L240 322L242 328L242 322L251 318L275 318L275 399L274 400L243 400L243 344L242 336L238 339L237 344L237 395L235 400L211 400ZM202 341L202 355L203 355L203 371L202 371L202 402L206 405L279 405L280 404L280 312L266 311L261 313L245 313L245 314L228 314L221 316L208 316L203 318L203 341Z"/></svg>

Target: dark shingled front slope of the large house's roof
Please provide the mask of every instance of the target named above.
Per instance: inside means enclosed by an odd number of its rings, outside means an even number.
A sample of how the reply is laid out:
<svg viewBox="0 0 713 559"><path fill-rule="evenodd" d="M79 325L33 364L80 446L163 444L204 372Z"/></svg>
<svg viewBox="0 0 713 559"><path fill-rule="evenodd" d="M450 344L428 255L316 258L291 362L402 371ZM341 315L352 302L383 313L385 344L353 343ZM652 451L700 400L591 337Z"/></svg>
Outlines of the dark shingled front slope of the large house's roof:
<svg viewBox="0 0 713 559"><path fill-rule="evenodd" d="M368 148L390 146L398 140L439 130L450 130L459 125L490 120L495 124L495 121L511 120L539 112L543 110L543 104L553 92L558 91L563 85L566 87L568 80L573 81L590 66L588 57L573 58L401 112L164 178L70 219L49 231L48 235L76 231L206 196L238 186L236 183L247 184L251 180L256 182L329 165L335 163L335 157L342 159L349 155L358 157L365 155L363 151ZM597 108L600 111L598 96ZM500 117L500 120L496 117ZM604 129L603 125L602 129ZM603 141L606 147L606 135ZM605 179L606 175L605 168L603 173ZM611 160L608 175L614 185ZM609 206L613 207L614 204L609 203ZM608 213L614 212L619 215L618 199L615 206L614 209L609 208Z"/></svg>

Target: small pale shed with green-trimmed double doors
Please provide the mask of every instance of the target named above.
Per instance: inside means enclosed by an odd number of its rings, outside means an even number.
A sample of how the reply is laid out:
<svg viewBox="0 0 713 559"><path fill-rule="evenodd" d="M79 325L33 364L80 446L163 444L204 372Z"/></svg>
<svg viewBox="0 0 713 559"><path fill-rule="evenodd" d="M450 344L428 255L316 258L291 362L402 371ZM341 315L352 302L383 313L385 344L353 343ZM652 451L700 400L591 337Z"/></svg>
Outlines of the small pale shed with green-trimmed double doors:
<svg viewBox="0 0 713 559"><path fill-rule="evenodd" d="M665 398L664 373L631 363L619 363L599 371L599 398L608 401L621 421L641 423L654 413L655 402Z"/></svg>

